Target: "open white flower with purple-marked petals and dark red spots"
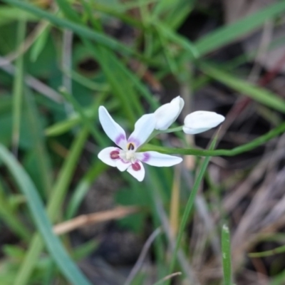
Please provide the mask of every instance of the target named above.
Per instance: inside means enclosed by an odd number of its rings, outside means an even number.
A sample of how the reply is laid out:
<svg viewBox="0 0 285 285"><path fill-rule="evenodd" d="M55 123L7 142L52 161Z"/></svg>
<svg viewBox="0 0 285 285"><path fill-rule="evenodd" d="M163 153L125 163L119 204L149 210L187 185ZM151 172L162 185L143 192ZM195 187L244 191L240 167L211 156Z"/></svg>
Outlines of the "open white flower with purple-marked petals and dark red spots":
<svg viewBox="0 0 285 285"><path fill-rule="evenodd" d="M181 157L164 155L160 152L137 152L138 148L149 138L155 129L155 115L147 114L135 123L135 130L127 140L123 128L115 123L105 107L99 107L99 120L106 135L118 147L106 147L98 153L98 158L105 164L117 167L120 171L127 170L138 181L145 177L142 162L153 166L172 166L182 162ZM120 148L119 148L120 147Z"/></svg>

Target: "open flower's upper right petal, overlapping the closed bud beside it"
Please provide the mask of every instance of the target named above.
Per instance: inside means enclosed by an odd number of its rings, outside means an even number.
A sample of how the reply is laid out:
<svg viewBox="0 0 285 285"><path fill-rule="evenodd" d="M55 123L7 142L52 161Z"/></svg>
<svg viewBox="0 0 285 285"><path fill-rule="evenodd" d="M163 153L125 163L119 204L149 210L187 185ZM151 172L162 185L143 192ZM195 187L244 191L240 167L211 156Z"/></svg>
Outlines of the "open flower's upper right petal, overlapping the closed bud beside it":
<svg viewBox="0 0 285 285"><path fill-rule="evenodd" d="M135 130L131 133L128 142L133 142L135 150L142 145L155 129L155 115L142 115L135 123Z"/></svg>

